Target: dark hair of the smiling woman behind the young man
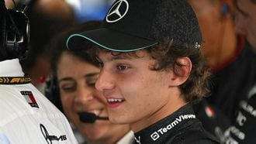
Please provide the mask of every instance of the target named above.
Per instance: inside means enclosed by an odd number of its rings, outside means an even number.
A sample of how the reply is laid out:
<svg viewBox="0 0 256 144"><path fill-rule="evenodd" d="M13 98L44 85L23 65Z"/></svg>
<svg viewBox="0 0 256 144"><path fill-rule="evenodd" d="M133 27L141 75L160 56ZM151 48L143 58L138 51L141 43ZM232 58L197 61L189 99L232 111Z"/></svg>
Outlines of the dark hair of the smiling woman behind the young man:
<svg viewBox="0 0 256 144"><path fill-rule="evenodd" d="M57 64L59 63L61 54L70 53L74 57L78 57L81 60L84 60L88 63L92 63L96 67L99 67L99 65L85 51L83 52L83 51L67 50L67 47L66 47L67 37L70 36L72 33L78 33L85 30L100 28L101 25L102 25L102 22L92 21L92 22L82 23L79 26L74 26L73 28L65 31L64 33L61 33L58 36L56 36L45 51L46 56L50 61L51 68L52 68L52 74L50 75L50 78L49 80L47 80L47 83L46 83L47 87L45 89L45 95L62 112L64 111L62 108L61 95L59 91L59 86L57 82L57 73L56 73Z"/></svg>

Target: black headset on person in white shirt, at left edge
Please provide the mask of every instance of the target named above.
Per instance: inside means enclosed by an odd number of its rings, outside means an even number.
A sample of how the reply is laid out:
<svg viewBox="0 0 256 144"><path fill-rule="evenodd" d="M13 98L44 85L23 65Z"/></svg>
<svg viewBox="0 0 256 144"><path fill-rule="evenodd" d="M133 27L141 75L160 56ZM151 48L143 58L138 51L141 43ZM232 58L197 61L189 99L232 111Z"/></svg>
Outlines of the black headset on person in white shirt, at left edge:
<svg viewBox="0 0 256 144"><path fill-rule="evenodd" d="M24 12L16 9L6 9L5 1L1 1L2 15L2 45L1 60L26 58L29 44L29 19Z"/></svg>

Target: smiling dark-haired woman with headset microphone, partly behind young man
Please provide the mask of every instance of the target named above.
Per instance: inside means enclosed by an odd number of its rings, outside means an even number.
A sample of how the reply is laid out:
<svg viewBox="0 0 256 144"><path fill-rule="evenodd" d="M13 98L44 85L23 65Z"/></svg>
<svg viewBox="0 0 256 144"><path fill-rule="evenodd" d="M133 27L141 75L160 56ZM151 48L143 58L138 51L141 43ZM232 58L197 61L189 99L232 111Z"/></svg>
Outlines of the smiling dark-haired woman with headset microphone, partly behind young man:
<svg viewBox="0 0 256 144"><path fill-rule="evenodd" d="M109 122L106 99L95 89L99 77L99 64L83 52L66 49L65 41L71 33L96 29L102 22L88 21L61 33L50 47L48 54L53 75L47 81L45 94L67 116L74 129L78 130L88 144L129 144L133 132L129 125Z"/></svg>

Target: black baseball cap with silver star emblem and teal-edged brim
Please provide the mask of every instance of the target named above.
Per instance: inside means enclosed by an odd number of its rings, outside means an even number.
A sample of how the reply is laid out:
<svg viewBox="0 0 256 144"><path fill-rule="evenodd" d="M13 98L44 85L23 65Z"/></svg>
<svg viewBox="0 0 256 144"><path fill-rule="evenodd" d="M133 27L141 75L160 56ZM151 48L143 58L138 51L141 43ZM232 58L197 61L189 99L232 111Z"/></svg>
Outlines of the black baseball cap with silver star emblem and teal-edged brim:
<svg viewBox="0 0 256 144"><path fill-rule="evenodd" d="M116 0L101 29L75 33L67 49L81 50L88 43L119 52L141 50L164 40L175 46L198 48L202 43L195 12L186 0Z"/></svg>

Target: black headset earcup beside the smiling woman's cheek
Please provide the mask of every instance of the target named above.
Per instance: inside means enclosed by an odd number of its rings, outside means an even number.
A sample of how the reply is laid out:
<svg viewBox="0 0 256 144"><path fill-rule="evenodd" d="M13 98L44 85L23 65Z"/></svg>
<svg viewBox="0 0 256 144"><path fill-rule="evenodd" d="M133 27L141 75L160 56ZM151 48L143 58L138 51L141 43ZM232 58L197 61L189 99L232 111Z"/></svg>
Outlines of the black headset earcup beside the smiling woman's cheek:
<svg viewBox="0 0 256 144"><path fill-rule="evenodd" d="M57 82L57 76L51 74L46 81L46 88L44 95L60 110L63 112L61 104L61 94Z"/></svg>

